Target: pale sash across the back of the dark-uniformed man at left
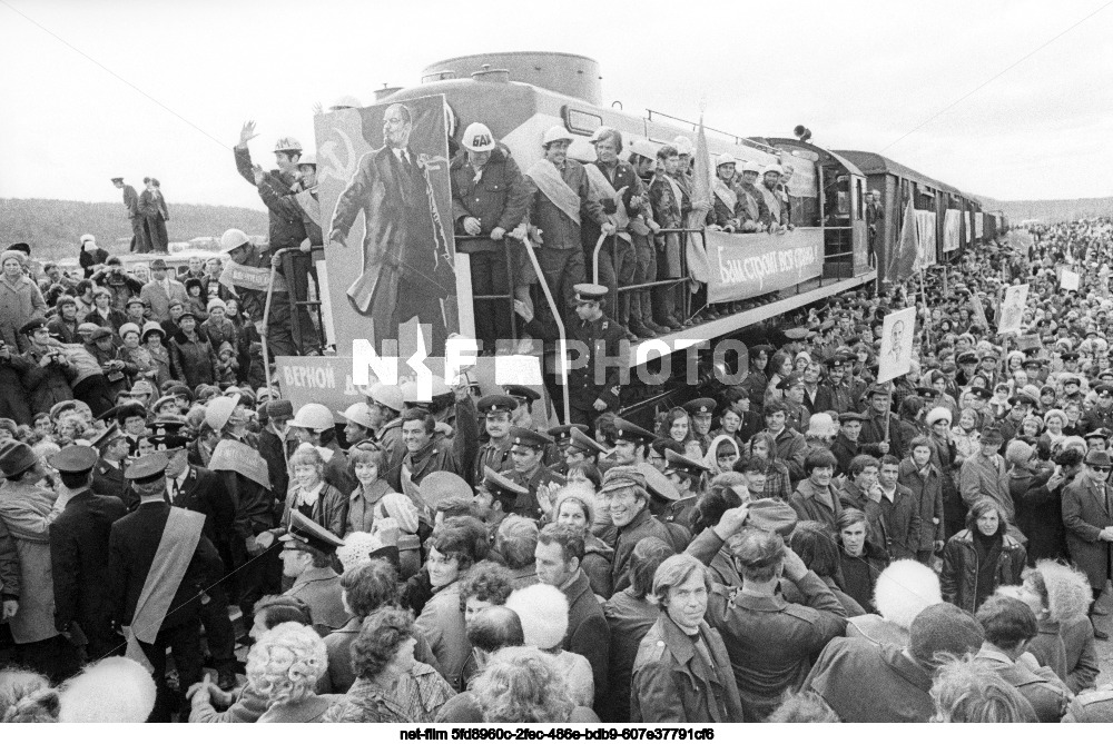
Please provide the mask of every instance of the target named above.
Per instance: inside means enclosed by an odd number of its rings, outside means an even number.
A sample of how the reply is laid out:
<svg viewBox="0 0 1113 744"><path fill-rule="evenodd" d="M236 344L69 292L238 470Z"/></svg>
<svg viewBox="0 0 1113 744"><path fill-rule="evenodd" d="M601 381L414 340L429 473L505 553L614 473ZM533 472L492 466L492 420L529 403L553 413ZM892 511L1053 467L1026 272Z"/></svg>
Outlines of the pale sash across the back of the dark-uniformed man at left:
<svg viewBox="0 0 1113 744"><path fill-rule="evenodd" d="M200 543L204 527L204 514L170 507L170 515L155 552L155 562L147 572L147 579L136 604L136 614L125 633L128 641L127 657L142 664L148 672L154 672L155 668L139 643L155 643L166 613L170 611L174 595L178 593L197 544Z"/></svg>

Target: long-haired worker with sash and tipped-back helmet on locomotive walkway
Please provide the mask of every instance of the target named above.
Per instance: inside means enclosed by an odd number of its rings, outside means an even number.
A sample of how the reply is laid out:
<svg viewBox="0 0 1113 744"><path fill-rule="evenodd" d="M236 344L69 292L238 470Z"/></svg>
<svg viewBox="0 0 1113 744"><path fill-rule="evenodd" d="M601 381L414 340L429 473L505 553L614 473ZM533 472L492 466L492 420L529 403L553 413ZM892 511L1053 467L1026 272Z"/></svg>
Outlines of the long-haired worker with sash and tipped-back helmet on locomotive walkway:
<svg viewBox="0 0 1113 744"><path fill-rule="evenodd" d="M642 214L652 216L646 189L638 173L627 162L619 160L622 152L622 135L611 127L600 127L589 140L595 146L595 162L584 166L588 179L600 195L599 202L607 219L618 229L615 238L603 241L599 252L599 284L607 287L607 307L611 319L618 321L628 333L629 340L656 338L658 333L630 317L630 292L619 294L619 287L633 284L637 251L630 221ZM599 240L599 228L594 222L583 226L583 244L593 251ZM589 260L591 254L585 256Z"/></svg>

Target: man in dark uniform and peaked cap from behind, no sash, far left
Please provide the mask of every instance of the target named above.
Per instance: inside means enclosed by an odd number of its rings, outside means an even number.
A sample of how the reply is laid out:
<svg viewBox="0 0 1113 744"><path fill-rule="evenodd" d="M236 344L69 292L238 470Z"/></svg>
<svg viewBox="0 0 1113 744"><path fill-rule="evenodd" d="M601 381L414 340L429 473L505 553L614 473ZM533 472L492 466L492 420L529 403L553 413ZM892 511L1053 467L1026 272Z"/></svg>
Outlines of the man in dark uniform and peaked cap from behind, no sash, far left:
<svg viewBox="0 0 1113 744"><path fill-rule="evenodd" d="M108 606L108 539L112 523L127 509L116 496L93 494L92 447L70 445L50 458L61 474L62 513L50 525L50 571L55 583L55 626L75 643L88 641L90 659L124 651L112 632Z"/></svg>

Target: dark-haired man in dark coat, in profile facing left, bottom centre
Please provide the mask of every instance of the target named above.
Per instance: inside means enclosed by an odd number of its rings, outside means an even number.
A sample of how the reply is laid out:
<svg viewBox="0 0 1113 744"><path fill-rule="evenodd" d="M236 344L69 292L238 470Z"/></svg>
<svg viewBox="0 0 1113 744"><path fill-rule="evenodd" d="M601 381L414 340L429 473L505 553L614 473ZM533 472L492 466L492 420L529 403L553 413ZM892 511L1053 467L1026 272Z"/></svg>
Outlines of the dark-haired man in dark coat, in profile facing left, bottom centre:
<svg viewBox="0 0 1113 744"><path fill-rule="evenodd" d="M595 707L605 700L609 677L611 632L603 611L591 592L583 561L583 533L569 525L545 525L534 548L538 579L555 586L568 597L568 633L563 648L580 654L591 664L595 682Z"/></svg>

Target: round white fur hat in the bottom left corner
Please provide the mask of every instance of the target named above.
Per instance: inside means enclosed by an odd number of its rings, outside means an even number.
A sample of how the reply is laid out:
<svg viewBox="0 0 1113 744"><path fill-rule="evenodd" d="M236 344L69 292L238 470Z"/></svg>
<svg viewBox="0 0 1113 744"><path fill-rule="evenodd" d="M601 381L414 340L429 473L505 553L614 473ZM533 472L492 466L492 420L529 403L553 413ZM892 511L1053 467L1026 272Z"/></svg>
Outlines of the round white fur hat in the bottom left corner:
<svg viewBox="0 0 1113 744"><path fill-rule="evenodd" d="M144 723L155 710L155 679L138 662L109 656L60 690L59 723Z"/></svg>

